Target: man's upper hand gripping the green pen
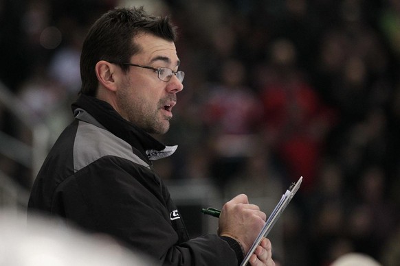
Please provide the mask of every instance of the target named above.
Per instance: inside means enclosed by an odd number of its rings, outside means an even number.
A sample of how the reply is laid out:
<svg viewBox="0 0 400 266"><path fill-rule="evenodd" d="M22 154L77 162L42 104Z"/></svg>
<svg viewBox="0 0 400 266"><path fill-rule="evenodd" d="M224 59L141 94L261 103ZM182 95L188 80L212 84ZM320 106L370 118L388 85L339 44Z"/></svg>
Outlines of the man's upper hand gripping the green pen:
<svg viewBox="0 0 400 266"><path fill-rule="evenodd" d="M263 228L266 217L258 206L249 204L246 195L237 195L221 210L219 235L238 241L246 254Z"/></svg>

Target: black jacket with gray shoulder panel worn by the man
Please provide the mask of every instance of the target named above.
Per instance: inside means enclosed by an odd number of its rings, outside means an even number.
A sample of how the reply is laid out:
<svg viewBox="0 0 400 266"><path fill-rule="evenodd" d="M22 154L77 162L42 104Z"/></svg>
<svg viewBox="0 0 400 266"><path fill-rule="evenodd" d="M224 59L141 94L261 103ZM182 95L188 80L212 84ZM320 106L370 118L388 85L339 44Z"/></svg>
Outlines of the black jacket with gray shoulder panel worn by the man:
<svg viewBox="0 0 400 266"><path fill-rule="evenodd" d="M104 101L81 95L34 182L29 213L63 217L104 232L160 265L237 265L233 239L189 239L170 193L151 160L172 154Z"/></svg>

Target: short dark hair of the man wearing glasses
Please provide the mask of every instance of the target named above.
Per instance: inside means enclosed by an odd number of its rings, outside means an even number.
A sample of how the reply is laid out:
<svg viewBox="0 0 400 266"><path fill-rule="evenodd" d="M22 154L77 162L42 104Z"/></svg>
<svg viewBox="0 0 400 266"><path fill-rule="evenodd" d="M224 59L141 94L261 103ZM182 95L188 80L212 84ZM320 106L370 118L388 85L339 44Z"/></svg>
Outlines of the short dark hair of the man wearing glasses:
<svg viewBox="0 0 400 266"><path fill-rule="evenodd" d="M80 56L80 93L96 96L98 80L95 66L100 60L129 62L140 51L133 42L137 34L150 33L175 41L175 27L170 18L148 15L144 8L115 8L102 15L89 29ZM128 66L121 64L124 71Z"/></svg>

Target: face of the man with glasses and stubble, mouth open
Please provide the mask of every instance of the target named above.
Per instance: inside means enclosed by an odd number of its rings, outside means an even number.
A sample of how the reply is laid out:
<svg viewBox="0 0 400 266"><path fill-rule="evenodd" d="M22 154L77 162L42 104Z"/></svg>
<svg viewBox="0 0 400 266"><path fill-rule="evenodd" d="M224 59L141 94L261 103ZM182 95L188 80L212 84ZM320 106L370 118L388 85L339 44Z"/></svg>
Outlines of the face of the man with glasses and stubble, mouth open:
<svg viewBox="0 0 400 266"><path fill-rule="evenodd" d="M177 71L179 58L175 44L168 40L143 34L135 37L142 47L132 56L132 64L166 67ZM129 66L116 92L118 112L124 119L151 134L164 134L170 127L172 109L177 102L176 93L184 86L173 75L168 82L159 80L157 72L137 66Z"/></svg>

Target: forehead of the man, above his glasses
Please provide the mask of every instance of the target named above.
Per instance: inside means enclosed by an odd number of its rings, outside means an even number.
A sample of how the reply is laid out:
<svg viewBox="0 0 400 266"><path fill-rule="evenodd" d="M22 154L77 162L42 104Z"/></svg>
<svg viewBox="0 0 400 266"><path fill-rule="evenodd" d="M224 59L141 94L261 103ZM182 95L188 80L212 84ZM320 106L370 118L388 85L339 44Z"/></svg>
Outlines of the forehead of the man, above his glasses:
<svg viewBox="0 0 400 266"><path fill-rule="evenodd" d="M140 52L133 58L142 60L142 63L162 60L169 64L179 64L177 49L173 41L164 40L153 34L140 34L133 40L140 46Z"/></svg>

